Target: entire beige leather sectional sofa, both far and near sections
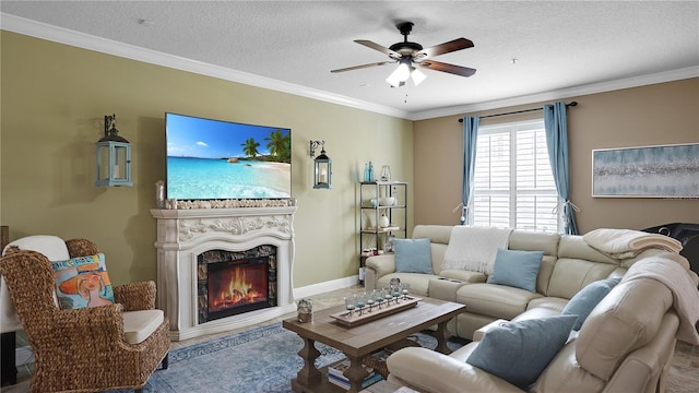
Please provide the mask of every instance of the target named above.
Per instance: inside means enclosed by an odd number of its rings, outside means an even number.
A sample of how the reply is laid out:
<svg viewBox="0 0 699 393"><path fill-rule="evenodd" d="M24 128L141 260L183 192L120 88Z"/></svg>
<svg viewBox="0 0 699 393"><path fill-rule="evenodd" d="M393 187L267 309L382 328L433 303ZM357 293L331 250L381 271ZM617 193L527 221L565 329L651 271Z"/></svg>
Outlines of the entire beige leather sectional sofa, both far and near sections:
<svg viewBox="0 0 699 393"><path fill-rule="evenodd" d="M416 295L465 303L467 311L452 321L450 330L474 340L449 356L426 348L396 352L388 359L389 381L393 383L423 393L662 392L680 327L690 331L690 340L699 337L696 321L687 326L687 318L678 317L686 314L677 312L677 293L656 279L637 277L638 271L645 269L642 266L653 262L667 270L661 275L678 274L688 282L689 298L699 302L697 276L689 271L687 260L676 253L648 249L635 258L617 260L590 247L582 236L513 230L509 249L544 251L536 293L531 293L487 284L481 273L442 270L452 228L418 225L413 231L415 239L430 239L435 274L396 273L391 254L367 260L367 289L386 286L398 277L410 283ZM641 260L645 261L627 274ZM619 277L620 284L594 307L579 331L569 333L561 343L565 346L556 349L535 382L517 385L466 361L478 350L483 343L479 340L487 338L488 329L500 324L498 320L526 323L555 318L583 287L609 277ZM696 303L691 307L696 308Z"/></svg>

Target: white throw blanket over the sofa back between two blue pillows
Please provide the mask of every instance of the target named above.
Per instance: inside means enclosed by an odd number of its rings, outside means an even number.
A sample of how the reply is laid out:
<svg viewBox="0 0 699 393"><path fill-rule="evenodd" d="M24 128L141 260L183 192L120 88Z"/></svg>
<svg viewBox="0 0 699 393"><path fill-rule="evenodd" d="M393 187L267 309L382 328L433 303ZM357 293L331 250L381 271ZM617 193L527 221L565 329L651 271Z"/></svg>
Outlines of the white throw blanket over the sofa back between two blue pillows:
<svg viewBox="0 0 699 393"><path fill-rule="evenodd" d="M509 228L454 226L441 267L490 275L498 248L507 249L511 233Z"/></svg>

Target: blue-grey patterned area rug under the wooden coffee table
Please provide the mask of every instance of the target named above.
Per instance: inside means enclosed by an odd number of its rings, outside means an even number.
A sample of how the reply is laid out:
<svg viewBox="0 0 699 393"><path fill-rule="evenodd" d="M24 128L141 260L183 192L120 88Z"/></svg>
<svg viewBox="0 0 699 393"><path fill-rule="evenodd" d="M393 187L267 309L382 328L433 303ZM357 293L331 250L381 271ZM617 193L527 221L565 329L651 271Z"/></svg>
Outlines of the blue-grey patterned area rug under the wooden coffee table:
<svg viewBox="0 0 699 393"><path fill-rule="evenodd" d="M435 348L437 340L428 333L416 334L419 344ZM304 346L296 333L281 323L245 331L223 338L174 349L169 367L156 370L144 392L224 393L292 392L291 380L304 366L298 350ZM460 346L449 343L452 349ZM316 343L320 357L316 367L337 361L344 355Z"/></svg>

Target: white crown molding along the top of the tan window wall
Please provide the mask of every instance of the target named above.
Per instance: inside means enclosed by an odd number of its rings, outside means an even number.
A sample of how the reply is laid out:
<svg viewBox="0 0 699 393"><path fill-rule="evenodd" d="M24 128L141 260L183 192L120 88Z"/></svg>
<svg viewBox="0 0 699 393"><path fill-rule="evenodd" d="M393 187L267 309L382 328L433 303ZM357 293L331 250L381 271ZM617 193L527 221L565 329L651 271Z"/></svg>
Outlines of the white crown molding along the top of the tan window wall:
<svg viewBox="0 0 699 393"><path fill-rule="evenodd" d="M560 88L555 91L548 91L544 93L530 94L519 97L511 97L505 99L497 99L485 103L469 104L462 106L454 106L448 108L440 108L434 110L425 110L420 112L414 112L410 117L410 120L427 120L446 116L472 114L481 110L499 109L506 107L513 107L518 105L526 105L533 103L541 103L545 100L562 99L569 97L578 97L582 95L612 92L623 88L631 88L638 86L645 86L656 83L673 82L685 79L699 78L699 68L688 67L679 70L659 72L654 74L647 74L640 76L625 78L615 81L606 81L600 83L591 83L587 85Z"/></svg>

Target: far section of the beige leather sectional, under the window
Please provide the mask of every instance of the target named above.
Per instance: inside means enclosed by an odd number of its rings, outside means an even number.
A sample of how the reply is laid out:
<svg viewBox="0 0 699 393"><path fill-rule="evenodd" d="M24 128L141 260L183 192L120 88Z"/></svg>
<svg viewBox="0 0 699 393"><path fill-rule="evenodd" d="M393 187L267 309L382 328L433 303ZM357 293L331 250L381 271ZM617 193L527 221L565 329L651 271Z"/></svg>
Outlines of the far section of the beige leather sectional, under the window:
<svg viewBox="0 0 699 393"><path fill-rule="evenodd" d="M413 238L429 238L435 274L396 273L393 254L368 258L365 287L371 290L388 286L398 277L411 285L417 296L457 301L467 306L450 324L453 334L473 340L482 326L498 319L511 320L534 308L562 310L568 300L588 284L623 276L633 262L664 252L649 249L636 258L615 260L588 246L582 236L535 233L514 229L509 236L508 249L543 251L544 258L536 278L536 293L502 285L487 284L483 273L462 270L442 270L452 226L417 225Z"/></svg>

